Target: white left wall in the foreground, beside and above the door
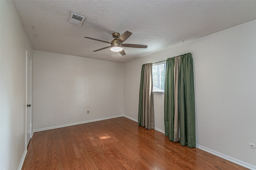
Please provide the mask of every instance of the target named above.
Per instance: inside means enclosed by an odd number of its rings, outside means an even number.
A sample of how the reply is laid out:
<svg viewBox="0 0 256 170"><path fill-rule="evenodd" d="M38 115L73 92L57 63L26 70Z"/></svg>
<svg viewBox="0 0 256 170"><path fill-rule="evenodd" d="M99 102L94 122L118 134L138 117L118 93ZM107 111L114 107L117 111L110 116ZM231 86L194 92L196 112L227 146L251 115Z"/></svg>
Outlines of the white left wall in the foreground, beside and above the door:
<svg viewBox="0 0 256 170"><path fill-rule="evenodd" d="M33 48L13 2L0 0L0 13L0 170L15 170L26 149L26 50L33 59Z"/></svg>

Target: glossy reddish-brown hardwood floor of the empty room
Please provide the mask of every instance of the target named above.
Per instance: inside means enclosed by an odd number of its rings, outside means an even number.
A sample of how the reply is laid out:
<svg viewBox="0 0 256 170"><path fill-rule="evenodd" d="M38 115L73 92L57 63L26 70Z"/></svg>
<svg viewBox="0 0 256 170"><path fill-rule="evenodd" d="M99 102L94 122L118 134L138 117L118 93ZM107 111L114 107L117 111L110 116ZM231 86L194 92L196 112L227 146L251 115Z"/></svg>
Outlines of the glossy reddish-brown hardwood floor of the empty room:
<svg viewBox="0 0 256 170"><path fill-rule="evenodd" d="M246 170L125 117L34 133L22 170Z"/></svg>

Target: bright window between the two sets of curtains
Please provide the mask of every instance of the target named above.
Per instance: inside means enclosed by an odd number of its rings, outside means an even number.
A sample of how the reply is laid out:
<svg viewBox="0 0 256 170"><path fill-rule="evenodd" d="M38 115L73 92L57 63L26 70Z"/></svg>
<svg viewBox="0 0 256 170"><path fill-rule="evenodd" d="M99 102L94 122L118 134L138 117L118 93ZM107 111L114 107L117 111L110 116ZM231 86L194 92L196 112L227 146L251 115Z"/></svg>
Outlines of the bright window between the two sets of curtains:
<svg viewBox="0 0 256 170"><path fill-rule="evenodd" d="M164 92L165 63L156 63L152 66L153 92Z"/></svg>

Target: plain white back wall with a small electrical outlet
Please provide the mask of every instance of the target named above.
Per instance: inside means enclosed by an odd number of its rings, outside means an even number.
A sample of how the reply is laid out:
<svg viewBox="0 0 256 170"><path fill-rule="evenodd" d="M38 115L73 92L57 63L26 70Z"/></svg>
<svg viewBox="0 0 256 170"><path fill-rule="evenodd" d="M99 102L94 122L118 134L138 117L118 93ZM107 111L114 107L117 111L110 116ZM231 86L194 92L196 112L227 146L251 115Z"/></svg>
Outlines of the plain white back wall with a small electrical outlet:
<svg viewBox="0 0 256 170"><path fill-rule="evenodd" d="M116 115L123 115L122 63L34 51L34 129Z"/></svg>

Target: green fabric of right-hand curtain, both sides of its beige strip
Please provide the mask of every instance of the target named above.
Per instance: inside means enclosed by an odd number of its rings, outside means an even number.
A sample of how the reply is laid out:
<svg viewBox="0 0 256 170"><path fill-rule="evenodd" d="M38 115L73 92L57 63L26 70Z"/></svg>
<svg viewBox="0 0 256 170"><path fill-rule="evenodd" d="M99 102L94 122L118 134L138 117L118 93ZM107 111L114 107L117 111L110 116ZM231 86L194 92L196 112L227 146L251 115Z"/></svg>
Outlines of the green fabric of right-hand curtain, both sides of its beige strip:
<svg viewBox="0 0 256 170"><path fill-rule="evenodd" d="M192 148L196 147L193 58L191 53L178 57L178 60L177 57L166 60L164 93L165 135L169 136L170 141L177 141L177 133L174 133L174 129L177 128L174 122L174 110L176 110L178 111L178 125L180 126L180 144L186 146L187 143L188 147ZM178 77L174 79L174 75L178 75ZM177 81L178 92L177 88L175 88ZM178 105L174 104L176 92L178 93ZM176 108L177 106L178 108Z"/></svg>

